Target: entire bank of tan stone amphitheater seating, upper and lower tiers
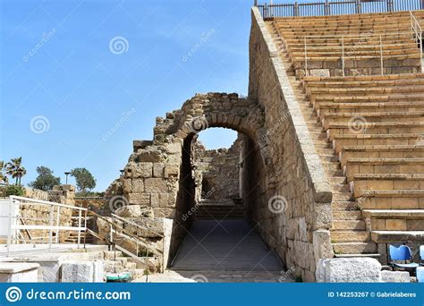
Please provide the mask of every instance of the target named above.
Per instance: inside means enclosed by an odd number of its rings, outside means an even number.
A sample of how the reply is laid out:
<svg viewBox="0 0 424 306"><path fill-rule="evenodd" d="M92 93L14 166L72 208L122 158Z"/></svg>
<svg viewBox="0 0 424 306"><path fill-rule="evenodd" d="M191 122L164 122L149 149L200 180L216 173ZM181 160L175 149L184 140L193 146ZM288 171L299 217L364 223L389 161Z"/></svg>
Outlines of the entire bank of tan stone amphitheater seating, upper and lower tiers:
<svg viewBox="0 0 424 306"><path fill-rule="evenodd" d="M423 26L424 11L414 15ZM267 26L334 191L335 256L384 262L381 245L423 242L424 74L410 13L272 18ZM305 76L304 36L312 35ZM345 54L346 76L336 35L356 46Z"/></svg>

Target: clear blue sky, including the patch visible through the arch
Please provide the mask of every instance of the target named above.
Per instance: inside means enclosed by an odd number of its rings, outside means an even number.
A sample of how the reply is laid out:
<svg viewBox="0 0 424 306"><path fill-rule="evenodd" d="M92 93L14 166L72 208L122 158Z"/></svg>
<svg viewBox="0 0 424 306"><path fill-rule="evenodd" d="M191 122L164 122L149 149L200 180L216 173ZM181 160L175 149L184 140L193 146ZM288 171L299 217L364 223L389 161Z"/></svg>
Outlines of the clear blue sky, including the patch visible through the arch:
<svg viewBox="0 0 424 306"><path fill-rule="evenodd" d="M247 94L252 3L1 1L0 159L23 157L22 183L37 166L63 182L87 167L104 191L157 116L196 92ZM208 148L234 137L200 135Z"/></svg>

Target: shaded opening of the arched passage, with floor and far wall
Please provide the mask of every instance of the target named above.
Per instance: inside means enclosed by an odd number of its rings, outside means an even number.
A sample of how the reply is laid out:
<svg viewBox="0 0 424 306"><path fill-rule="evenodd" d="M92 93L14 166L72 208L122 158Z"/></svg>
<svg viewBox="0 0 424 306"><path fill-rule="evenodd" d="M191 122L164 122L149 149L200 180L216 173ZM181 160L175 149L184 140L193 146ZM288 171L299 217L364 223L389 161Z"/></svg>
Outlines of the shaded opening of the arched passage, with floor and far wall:
<svg viewBox="0 0 424 306"><path fill-rule="evenodd" d="M256 231L266 186L258 141L235 132L230 146L208 149L202 133L183 143L175 216L181 242L172 268L281 270Z"/></svg>

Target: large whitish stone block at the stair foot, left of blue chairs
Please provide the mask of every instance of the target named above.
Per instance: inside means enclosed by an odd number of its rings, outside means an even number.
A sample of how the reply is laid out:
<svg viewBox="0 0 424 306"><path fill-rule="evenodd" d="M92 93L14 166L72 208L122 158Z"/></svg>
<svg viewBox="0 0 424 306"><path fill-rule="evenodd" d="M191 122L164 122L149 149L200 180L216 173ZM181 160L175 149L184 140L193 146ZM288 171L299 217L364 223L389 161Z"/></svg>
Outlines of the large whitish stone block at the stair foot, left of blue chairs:
<svg viewBox="0 0 424 306"><path fill-rule="evenodd" d="M371 258L319 259L318 283L379 283L381 264Z"/></svg>

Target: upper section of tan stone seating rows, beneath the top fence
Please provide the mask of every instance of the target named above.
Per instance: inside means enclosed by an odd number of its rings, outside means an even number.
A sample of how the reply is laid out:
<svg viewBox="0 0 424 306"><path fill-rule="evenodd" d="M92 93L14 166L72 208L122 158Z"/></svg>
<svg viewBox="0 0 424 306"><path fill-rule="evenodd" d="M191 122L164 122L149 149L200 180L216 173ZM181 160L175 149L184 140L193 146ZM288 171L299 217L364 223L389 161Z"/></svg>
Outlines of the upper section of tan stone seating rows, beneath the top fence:
<svg viewBox="0 0 424 306"><path fill-rule="evenodd" d="M424 18L422 11L414 15ZM310 75L343 75L342 55L345 75L380 74L381 49L385 74L419 72L420 49L411 36L409 12L271 20L299 77L305 73L305 42Z"/></svg>

